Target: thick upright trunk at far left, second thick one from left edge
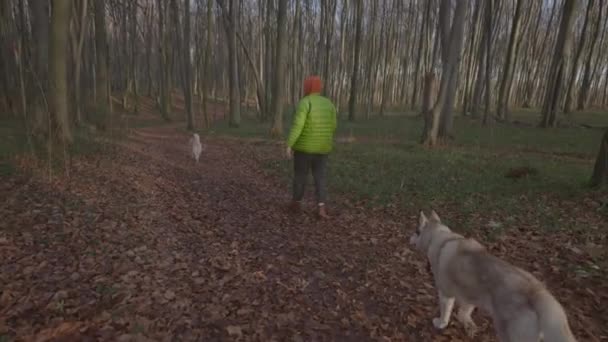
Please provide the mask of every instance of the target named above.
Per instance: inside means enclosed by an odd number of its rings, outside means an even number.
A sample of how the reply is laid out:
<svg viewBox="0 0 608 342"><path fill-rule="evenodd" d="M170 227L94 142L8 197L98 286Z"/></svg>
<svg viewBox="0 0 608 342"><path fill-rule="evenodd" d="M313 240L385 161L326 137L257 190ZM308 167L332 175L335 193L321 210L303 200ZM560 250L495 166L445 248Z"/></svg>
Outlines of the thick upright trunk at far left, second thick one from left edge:
<svg viewBox="0 0 608 342"><path fill-rule="evenodd" d="M49 32L49 104L51 115L59 131L59 138L69 144L72 142L72 133L68 118L67 51L71 1L52 1Z"/></svg>

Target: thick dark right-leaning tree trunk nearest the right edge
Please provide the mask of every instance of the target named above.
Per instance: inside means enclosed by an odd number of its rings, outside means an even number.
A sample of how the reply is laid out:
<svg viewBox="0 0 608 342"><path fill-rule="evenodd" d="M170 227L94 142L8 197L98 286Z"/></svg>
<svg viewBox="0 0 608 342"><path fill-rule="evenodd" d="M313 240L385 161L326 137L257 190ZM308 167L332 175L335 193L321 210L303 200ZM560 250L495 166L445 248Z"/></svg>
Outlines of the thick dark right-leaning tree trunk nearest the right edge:
<svg viewBox="0 0 608 342"><path fill-rule="evenodd" d="M577 0L565 0L564 2L562 21L547 79L540 127L555 127L557 124L559 92L564 81L565 61L568 59L572 41L571 31L576 13L576 2Z"/></svg>

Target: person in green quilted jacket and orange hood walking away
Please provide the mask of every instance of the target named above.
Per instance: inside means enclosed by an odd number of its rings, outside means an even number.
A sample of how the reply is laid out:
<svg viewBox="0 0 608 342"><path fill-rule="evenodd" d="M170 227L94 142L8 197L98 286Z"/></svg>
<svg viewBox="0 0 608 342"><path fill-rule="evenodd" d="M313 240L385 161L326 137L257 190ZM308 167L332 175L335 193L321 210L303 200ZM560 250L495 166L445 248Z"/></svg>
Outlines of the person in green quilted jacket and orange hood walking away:
<svg viewBox="0 0 608 342"><path fill-rule="evenodd" d="M333 149L334 133L337 127L336 106L328 98L321 96L321 78L310 76L304 80L304 97L298 103L293 124L287 139L287 157L293 158L293 193L289 209L292 213L301 211L306 180L310 171L315 182L317 215L328 218L327 200L327 159Z"/></svg>

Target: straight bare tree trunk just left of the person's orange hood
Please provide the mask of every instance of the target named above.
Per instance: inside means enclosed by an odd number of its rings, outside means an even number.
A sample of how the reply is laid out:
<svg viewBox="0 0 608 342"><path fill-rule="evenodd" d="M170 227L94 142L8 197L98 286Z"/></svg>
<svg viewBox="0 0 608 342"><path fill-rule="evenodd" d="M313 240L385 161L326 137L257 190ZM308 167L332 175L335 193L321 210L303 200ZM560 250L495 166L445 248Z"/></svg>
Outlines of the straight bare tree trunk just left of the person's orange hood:
<svg viewBox="0 0 608 342"><path fill-rule="evenodd" d="M327 51L329 53L329 51ZM285 66L287 64L287 0L279 0L277 13L277 55L275 59L274 91L272 92L273 123L270 135L283 134L283 93L285 89Z"/></svg>

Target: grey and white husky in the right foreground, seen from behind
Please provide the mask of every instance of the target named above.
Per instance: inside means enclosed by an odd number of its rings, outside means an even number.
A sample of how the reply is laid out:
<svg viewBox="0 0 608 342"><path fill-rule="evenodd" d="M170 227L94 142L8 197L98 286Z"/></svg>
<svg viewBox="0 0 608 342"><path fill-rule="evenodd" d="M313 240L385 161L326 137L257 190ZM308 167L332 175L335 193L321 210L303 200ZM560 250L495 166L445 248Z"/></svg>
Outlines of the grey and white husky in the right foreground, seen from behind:
<svg viewBox="0 0 608 342"><path fill-rule="evenodd" d="M431 265L439 292L436 328L449 324L457 302L456 317L471 337L477 329L471 313L479 307L492 317L501 342L576 341L564 309L538 279L489 254L479 242L453 233L435 211L429 218L420 212L410 243Z"/></svg>

